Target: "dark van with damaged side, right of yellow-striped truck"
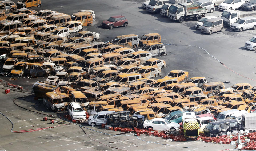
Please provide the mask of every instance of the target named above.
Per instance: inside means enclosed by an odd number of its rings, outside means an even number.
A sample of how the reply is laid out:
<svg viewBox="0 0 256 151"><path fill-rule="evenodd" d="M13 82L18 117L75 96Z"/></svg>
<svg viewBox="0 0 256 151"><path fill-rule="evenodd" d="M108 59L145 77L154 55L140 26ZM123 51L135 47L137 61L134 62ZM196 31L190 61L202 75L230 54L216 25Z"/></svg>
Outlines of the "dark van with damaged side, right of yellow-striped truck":
<svg viewBox="0 0 256 151"><path fill-rule="evenodd" d="M239 123L237 120L228 119L208 123L205 129L203 129L203 132L205 133L206 136L217 137L220 135L224 135L227 132L239 132L239 129Z"/></svg>

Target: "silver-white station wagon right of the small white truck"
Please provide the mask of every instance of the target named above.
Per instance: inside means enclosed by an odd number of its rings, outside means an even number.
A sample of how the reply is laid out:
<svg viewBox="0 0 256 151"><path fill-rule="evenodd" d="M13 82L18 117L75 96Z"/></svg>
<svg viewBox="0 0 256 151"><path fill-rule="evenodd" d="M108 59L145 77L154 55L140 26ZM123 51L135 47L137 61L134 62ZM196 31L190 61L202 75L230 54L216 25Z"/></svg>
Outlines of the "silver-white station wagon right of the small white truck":
<svg viewBox="0 0 256 151"><path fill-rule="evenodd" d="M249 16L238 19L235 23L231 24L231 30L242 32L245 29L256 29L256 17Z"/></svg>

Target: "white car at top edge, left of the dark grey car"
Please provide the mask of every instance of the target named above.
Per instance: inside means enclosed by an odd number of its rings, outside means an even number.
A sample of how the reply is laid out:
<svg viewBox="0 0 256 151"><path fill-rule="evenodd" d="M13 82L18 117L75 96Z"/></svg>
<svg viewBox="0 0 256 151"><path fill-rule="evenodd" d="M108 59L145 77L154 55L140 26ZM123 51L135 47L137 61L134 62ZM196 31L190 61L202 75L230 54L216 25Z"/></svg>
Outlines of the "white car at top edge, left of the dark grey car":
<svg viewBox="0 0 256 151"><path fill-rule="evenodd" d="M219 5L219 10L226 9L238 9L243 3L248 2L247 0L225 0Z"/></svg>

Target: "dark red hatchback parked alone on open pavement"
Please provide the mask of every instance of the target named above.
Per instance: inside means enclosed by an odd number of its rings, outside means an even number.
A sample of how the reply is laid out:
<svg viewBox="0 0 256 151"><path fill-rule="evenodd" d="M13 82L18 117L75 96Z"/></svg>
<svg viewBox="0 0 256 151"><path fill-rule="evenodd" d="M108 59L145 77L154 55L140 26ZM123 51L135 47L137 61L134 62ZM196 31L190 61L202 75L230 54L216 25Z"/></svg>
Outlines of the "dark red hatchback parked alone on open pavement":
<svg viewBox="0 0 256 151"><path fill-rule="evenodd" d="M114 27L119 27L119 26L127 27L128 20L125 18L125 16L122 16L122 15L111 16L109 19L103 21L101 23L101 26L109 29L112 29Z"/></svg>

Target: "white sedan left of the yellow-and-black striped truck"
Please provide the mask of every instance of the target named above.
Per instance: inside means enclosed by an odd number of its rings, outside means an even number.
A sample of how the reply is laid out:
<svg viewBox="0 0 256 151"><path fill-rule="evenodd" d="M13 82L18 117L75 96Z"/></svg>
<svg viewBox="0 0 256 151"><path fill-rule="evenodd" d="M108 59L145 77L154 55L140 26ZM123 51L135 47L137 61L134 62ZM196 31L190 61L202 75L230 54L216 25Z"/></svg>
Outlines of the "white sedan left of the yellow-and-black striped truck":
<svg viewBox="0 0 256 151"><path fill-rule="evenodd" d="M143 128L153 128L154 130L179 130L180 125L175 122L169 122L166 119L154 118L146 120L143 123Z"/></svg>

